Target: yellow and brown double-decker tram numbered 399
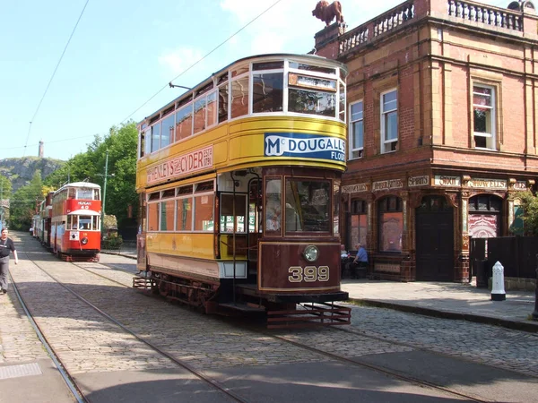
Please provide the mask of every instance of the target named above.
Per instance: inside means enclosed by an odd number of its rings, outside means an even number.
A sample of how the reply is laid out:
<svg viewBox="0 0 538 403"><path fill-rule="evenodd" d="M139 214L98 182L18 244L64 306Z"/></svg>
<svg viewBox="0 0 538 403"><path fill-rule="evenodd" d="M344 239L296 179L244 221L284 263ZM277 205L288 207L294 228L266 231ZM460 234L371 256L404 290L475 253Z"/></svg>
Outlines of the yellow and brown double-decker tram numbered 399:
<svg viewBox="0 0 538 403"><path fill-rule="evenodd" d="M251 56L146 117L134 287L269 327L346 324L344 64Z"/></svg>

